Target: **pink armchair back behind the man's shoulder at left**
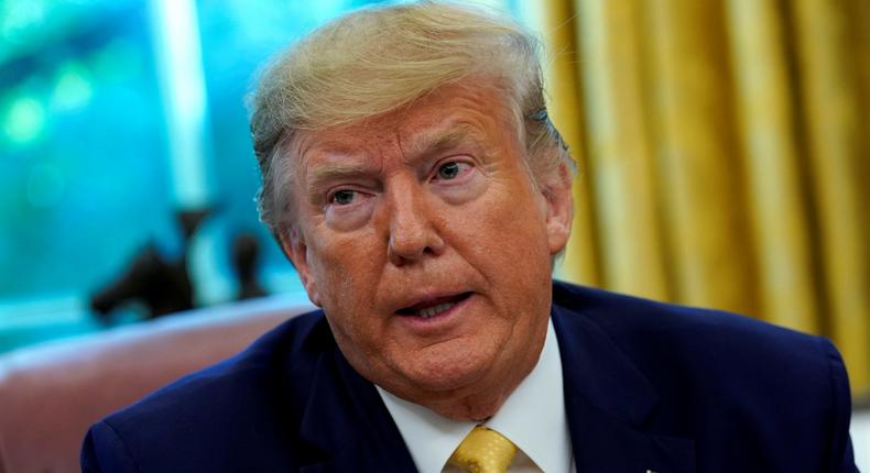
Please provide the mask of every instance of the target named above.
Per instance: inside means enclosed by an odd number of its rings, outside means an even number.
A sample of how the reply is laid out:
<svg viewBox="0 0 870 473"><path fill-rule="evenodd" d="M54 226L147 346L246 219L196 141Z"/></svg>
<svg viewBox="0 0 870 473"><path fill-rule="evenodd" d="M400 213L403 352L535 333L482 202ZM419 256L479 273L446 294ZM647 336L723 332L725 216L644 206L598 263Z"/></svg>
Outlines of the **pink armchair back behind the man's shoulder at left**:
<svg viewBox="0 0 870 473"><path fill-rule="evenodd" d="M273 296L0 356L0 473L76 472L87 428L313 307Z"/></svg>

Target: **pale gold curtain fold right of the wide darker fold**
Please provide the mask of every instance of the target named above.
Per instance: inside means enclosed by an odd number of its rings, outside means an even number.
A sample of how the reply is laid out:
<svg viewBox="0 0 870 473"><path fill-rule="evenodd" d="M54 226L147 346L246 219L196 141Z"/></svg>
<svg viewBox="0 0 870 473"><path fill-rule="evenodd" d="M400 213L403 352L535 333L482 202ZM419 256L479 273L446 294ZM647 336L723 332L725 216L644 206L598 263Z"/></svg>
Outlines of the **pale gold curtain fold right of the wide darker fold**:
<svg viewBox="0 0 870 473"><path fill-rule="evenodd" d="M786 35L772 1L730 0L736 107L752 216L761 311L765 319L816 332L819 312L808 212L803 201L796 110Z"/></svg>

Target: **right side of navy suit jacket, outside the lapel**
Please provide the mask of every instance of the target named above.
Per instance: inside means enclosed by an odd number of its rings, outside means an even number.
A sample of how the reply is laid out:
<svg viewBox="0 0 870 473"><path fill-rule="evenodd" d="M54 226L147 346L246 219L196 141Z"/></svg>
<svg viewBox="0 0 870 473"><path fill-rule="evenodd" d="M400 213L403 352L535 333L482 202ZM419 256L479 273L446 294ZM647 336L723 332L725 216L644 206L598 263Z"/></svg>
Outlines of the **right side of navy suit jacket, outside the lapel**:
<svg viewBox="0 0 870 473"><path fill-rule="evenodd" d="M693 438L707 453L727 446L759 464L791 464L804 452L807 471L853 471L848 377L827 339L563 283L553 296L563 318L597 327L654 389L651 430ZM699 466L721 466L705 458Z"/></svg>

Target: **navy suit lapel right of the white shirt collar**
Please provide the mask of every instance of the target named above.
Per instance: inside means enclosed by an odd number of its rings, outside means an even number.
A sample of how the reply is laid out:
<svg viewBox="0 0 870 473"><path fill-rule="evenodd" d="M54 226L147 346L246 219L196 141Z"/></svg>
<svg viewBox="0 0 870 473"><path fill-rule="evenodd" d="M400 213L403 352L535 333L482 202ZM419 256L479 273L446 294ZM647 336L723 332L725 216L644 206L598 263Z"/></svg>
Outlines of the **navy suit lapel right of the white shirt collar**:
<svg viewBox="0 0 870 473"><path fill-rule="evenodd" d="M694 442L644 431L655 389L607 333L553 305L577 472L695 471Z"/></svg>

